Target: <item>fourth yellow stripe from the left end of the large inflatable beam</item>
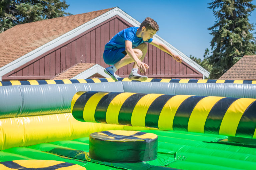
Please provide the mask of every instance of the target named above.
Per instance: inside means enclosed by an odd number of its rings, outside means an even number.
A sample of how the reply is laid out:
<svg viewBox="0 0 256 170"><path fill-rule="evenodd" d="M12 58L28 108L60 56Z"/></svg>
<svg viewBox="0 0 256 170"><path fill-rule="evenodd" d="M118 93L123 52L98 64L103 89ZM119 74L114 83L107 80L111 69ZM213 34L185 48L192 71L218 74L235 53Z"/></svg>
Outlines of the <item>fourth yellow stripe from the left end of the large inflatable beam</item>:
<svg viewBox="0 0 256 170"><path fill-rule="evenodd" d="M163 94L147 94L138 101L132 112L132 126L145 127L145 118L149 106L152 104L152 102L154 102L156 98L162 95Z"/></svg>

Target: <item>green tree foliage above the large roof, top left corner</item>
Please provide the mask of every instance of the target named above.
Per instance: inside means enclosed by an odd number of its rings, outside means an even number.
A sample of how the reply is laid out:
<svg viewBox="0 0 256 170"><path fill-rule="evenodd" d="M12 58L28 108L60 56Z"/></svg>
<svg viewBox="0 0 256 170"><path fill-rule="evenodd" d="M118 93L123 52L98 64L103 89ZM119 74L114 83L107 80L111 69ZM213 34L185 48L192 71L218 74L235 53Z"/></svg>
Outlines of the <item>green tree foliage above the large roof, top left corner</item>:
<svg viewBox="0 0 256 170"><path fill-rule="evenodd" d="M0 0L0 33L17 25L71 15L60 0Z"/></svg>

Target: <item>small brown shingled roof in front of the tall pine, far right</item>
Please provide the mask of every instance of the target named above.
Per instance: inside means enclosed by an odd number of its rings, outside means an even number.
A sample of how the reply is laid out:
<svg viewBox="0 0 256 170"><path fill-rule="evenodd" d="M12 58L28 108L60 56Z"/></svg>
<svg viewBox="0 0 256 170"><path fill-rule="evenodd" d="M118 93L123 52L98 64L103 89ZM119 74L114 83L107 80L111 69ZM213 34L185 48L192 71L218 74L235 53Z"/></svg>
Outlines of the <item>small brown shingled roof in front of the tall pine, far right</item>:
<svg viewBox="0 0 256 170"><path fill-rule="evenodd" d="M256 55L245 55L219 79L256 80Z"/></svg>

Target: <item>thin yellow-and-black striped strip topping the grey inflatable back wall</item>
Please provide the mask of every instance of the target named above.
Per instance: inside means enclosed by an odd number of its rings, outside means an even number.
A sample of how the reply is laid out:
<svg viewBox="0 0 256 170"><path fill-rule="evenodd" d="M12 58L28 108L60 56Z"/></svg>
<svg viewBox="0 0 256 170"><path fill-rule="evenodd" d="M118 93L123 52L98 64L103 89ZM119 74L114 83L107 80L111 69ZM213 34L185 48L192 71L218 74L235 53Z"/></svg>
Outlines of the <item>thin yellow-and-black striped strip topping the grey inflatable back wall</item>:
<svg viewBox="0 0 256 170"><path fill-rule="evenodd" d="M119 81L131 81L128 78L118 78ZM104 83L115 82L112 78L92 78L92 79L63 79L63 80L26 80L26 81L0 81L0 86L12 85L41 85L41 84L74 84L74 83ZM193 79L155 79L148 78L143 82L161 83L232 83L232 84L256 84L256 80L193 80Z"/></svg>

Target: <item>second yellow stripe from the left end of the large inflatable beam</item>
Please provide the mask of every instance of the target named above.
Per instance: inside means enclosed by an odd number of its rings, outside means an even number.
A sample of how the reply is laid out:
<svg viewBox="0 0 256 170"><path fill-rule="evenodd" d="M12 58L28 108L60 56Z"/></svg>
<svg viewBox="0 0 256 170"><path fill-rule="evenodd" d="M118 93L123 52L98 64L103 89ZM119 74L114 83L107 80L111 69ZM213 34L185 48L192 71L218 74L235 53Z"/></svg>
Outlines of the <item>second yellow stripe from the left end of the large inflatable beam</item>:
<svg viewBox="0 0 256 170"><path fill-rule="evenodd" d="M86 122L96 122L94 118L96 107L100 99L108 93L109 92L95 93L94 95L92 95L92 97L90 97L90 99L88 99L83 111L83 118Z"/></svg>

